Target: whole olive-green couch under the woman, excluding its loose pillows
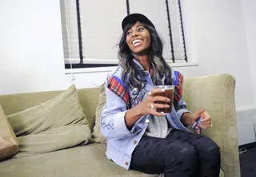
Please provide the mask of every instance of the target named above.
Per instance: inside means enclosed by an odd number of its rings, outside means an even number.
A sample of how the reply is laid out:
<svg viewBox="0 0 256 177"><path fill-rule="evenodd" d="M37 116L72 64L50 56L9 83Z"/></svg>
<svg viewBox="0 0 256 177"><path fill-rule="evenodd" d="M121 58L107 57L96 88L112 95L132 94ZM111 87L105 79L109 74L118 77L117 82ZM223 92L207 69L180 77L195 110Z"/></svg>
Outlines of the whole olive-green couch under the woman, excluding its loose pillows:
<svg viewBox="0 0 256 177"><path fill-rule="evenodd" d="M184 82L183 97L194 112L206 108L212 116L213 128L203 132L221 148L220 176L238 177L237 120L234 102L234 77L228 74L196 77ZM92 131L100 88L78 89L80 104ZM20 112L57 96L62 91L31 92L0 96L6 115ZM40 155L11 158L0 162L0 176L158 176L126 171L105 155L106 144L90 143Z"/></svg>

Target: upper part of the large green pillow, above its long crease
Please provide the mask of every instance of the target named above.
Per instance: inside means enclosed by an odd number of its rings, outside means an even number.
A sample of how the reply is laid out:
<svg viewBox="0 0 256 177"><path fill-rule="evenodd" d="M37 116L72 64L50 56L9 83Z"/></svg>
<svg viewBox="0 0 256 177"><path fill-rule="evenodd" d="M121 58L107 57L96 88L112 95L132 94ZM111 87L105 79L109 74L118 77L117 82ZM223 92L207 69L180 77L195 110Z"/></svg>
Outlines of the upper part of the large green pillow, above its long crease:
<svg viewBox="0 0 256 177"><path fill-rule="evenodd" d="M88 124L74 85L42 104L6 117L16 136L38 134L70 124Z"/></svg>

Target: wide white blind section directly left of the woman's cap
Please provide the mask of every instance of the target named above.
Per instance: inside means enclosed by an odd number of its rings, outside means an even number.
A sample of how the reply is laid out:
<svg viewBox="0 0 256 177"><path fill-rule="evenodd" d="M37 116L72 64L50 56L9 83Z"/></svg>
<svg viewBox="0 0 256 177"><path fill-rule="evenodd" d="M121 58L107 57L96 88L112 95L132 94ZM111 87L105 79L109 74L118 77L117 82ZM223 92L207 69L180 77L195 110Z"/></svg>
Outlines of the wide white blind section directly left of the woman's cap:
<svg viewBox="0 0 256 177"><path fill-rule="evenodd" d="M87 0L80 2L82 53L85 63L118 63L118 39L126 1Z"/></svg>

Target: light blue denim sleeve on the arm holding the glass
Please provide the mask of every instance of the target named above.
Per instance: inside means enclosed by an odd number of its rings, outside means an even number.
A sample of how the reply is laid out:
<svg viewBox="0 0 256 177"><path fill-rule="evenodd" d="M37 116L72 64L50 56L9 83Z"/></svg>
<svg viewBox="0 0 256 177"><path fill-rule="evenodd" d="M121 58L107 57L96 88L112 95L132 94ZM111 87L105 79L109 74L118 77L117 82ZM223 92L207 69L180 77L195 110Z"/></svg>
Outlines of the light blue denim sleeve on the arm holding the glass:
<svg viewBox="0 0 256 177"><path fill-rule="evenodd" d="M129 136L130 130L126 127L126 103L106 87L106 104L102 109L101 132L107 138Z"/></svg>

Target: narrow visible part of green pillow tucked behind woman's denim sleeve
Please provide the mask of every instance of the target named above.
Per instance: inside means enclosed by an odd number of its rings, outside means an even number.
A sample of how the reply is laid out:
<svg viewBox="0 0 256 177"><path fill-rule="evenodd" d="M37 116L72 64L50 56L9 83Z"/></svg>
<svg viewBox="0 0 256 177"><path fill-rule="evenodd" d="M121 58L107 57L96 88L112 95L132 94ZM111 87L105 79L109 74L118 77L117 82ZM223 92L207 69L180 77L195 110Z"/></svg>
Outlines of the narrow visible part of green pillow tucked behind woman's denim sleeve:
<svg viewBox="0 0 256 177"><path fill-rule="evenodd" d="M98 106L96 108L95 113L95 126L94 132L91 137L94 142L106 144L106 137L101 134L101 116L102 116L102 108L106 104L106 92L104 86L102 86L102 90L99 94Z"/></svg>

